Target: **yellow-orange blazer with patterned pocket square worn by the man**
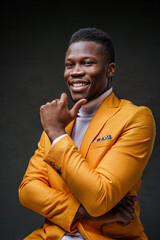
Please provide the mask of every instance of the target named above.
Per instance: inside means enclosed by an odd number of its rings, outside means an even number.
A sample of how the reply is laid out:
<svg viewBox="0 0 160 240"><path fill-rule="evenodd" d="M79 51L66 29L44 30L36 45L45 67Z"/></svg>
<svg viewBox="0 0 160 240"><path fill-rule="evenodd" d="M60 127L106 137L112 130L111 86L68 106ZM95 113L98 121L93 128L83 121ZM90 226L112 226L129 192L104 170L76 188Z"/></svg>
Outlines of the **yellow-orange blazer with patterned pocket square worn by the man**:
<svg viewBox="0 0 160 240"><path fill-rule="evenodd" d="M72 127L73 122L66 128L69 135ZM59 240L66 231L77 230L87 240L147 239L138 202L134 219L127 226L89 220L75 223L73 219L80 204L96 217L113 208L128 192L137 195L154 139L151 111L119 100L114 93L93 117L80 151L70 136L51 147L43 132L20 185L19 197L22 205L46 220L43 228L25 239Z"/></svg>

